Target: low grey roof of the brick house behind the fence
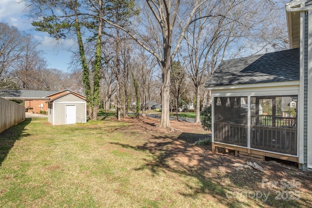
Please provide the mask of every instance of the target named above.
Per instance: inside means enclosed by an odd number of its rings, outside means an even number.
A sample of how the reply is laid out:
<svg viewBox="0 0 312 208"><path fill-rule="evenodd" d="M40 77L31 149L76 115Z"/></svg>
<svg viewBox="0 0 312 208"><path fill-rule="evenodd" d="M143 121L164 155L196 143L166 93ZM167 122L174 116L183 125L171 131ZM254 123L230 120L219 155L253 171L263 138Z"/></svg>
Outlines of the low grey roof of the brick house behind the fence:
<svg viewBox="0 0 312 208"><path fill-rule="evenodd" d="M0 97L7 99L38 99L47 95L55 94L59 91L40 91L40 90L0 90Z"/></svg>

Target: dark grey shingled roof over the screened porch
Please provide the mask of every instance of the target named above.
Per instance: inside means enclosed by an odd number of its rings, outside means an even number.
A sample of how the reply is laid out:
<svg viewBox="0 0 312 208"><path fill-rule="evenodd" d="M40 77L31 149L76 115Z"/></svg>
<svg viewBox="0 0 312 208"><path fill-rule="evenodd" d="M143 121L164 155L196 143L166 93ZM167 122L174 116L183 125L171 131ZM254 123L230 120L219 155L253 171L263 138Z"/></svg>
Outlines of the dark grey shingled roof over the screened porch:
<svg viewBox="0 0 312 208"><path fill-rule="evenodd" d="M205 87L295 81L299 67L299 48L225 60Z"/></svg>

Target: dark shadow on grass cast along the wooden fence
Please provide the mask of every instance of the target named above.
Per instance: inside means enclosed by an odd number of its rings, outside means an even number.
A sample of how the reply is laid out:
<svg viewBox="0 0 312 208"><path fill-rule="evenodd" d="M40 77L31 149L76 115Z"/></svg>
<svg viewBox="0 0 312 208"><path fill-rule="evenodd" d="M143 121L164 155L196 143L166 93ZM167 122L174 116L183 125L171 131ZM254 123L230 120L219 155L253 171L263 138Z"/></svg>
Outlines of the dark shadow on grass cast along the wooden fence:
<svg viewBox="0 0 312 208"><path fill-rule="evenodd" d="M24 133L24 129L30 122L31 118L26 118L19 124L0 133L0 166L7 157L9 151L14 146L15 142L22 136L28 136L27 133Z"/></svg>

